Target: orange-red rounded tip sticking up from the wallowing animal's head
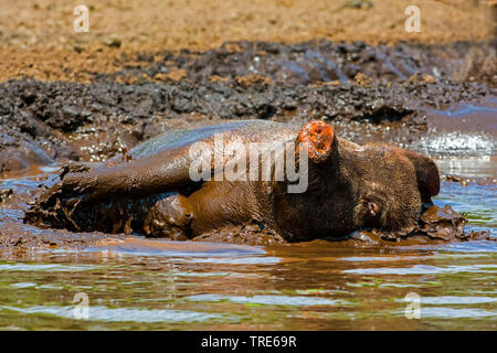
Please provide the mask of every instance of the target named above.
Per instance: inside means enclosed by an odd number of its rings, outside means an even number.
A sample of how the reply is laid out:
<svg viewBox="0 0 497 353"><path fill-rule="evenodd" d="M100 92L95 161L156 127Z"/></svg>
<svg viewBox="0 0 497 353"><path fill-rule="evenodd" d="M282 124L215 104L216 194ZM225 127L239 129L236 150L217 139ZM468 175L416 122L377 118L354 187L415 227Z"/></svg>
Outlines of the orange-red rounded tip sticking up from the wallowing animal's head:
<svg viewBox="0 0 497 353"><path fill-rule="evenodd" d="M297 140L299 143L306 143L311 162L321 163L331 154L335 131L325 121L313 120L304 125Z"/></svg>

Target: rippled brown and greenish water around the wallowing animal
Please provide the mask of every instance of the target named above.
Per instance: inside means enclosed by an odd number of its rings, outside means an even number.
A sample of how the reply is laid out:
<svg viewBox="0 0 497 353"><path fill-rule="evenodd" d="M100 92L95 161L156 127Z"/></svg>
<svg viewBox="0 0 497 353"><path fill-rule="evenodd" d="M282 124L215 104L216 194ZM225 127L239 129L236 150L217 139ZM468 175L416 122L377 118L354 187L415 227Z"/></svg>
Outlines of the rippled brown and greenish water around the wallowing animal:
<svg viewBox="0 0 497 353"><path fill-rule="evenodd" d="M434 202L464 212L467 231L496 237L495 157L436 162L462 181L443 181ZM0 188L29 193L38 180L18 175ZM0 210L0 225L19 224L21 211ZM3 247L0 329L495 330L496 259L489 240L351 248L325 240L253 247L131 237ZM420 319L405 317L411 292L421 297ZM74 311L76 293L88 298L87 320L75 319L82 312Z"/></svg>

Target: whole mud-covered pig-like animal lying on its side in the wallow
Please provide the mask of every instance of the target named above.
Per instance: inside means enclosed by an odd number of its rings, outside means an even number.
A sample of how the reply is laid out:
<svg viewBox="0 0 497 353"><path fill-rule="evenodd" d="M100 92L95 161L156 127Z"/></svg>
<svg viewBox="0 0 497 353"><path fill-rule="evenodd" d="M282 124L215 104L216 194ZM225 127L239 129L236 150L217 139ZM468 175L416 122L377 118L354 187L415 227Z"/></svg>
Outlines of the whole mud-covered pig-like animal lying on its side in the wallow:
<svg viewBox="0 0 497 353"><path fill-rule="evenodd" d="M166 132L125 157L61 175L25 221L175 239L257 222L298 242L411 227L440 189L430 158L359 146L320 120Z"/></svg>

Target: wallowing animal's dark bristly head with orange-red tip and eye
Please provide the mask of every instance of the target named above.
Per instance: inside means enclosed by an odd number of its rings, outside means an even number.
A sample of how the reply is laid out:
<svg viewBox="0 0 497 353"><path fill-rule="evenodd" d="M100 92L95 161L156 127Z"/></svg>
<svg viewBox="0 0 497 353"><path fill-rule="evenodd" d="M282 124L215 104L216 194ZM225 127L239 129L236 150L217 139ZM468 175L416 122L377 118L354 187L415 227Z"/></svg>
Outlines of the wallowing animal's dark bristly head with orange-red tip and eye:
<svg viewBox="0 0 497 353"><path fill-rule="evenodd" d="M438 170L423 154L384 143L359 146L318 120L303 127L297 143L308 153L308 189L276 195L276 220L289 239L400 231L417 224L423 204L438 193Z"/></svg>

